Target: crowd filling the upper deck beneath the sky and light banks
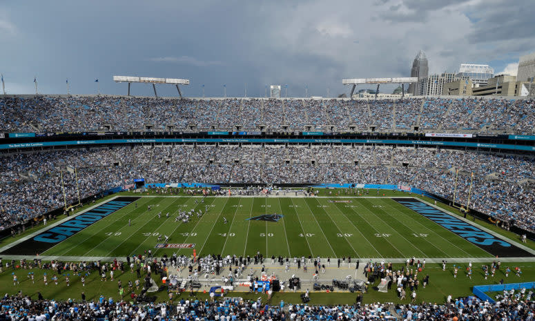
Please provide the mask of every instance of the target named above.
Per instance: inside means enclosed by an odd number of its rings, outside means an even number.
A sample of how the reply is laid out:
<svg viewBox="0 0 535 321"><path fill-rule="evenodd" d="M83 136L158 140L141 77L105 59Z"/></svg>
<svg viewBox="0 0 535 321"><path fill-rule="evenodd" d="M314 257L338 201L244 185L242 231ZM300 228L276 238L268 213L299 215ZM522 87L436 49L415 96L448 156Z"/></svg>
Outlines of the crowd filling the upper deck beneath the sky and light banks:
<svg viewBox="0 0 535 321"><path fill-rule="evenodd" d="M533 99L166 99L3 97L0 131L387 130L434 128L533 133ZM91 119L91 121L87 121ZM307 128L309 126L309 128Z"/></svg>

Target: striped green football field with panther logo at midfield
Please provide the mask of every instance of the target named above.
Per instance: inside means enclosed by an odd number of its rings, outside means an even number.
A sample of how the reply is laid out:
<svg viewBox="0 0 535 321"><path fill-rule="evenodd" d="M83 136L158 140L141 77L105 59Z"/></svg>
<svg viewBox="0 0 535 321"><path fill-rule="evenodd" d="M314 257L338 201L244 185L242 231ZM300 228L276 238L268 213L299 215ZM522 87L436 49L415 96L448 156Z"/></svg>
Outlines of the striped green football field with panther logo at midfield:
<svg viewBox="0 0 535 321"><path fill-rule="evenodd" d="M173 253L191 255L193 249L197 255L253 256L260 252L264 257L495 256L469 242L467 237L401 204L399 198L206 197L203 202L202 197L187 196L124 198L133 200L92 224L80 225L80 231L72 227L81 224L84 216L79 215L79 223L71 222L70 229L48 227L50 233L46 233L43 228L41 235L26 242L49 240L48 245L43 243L48 249L39 255L68 257L126 257L144 254L149 249L157 257ZM201 217L191 215L187 223L175 222L180 211L191 209L206 213ZM91 211L81 215L90 217ZM169 237L167 242L164 235ZM11 254L26 254L24 246L30 247L28 251L38 251L35 245L24 244L14 247Z"/></svg>

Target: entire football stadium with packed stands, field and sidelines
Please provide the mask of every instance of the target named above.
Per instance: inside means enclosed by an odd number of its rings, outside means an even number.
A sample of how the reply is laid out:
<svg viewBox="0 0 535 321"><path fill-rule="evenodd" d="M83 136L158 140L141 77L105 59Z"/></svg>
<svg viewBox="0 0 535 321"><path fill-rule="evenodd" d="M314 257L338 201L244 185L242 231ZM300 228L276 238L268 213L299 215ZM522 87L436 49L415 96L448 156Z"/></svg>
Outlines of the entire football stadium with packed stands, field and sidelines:
<svg viewBox="0 0 535 321"><path fill-rule="evenodd" d="M95 64L96 95L2 75L0 320L534 320L532 55L428 75L420 51L338 97L192 94L226 63L190 58Z"/></svg>

